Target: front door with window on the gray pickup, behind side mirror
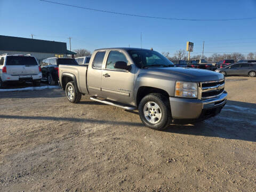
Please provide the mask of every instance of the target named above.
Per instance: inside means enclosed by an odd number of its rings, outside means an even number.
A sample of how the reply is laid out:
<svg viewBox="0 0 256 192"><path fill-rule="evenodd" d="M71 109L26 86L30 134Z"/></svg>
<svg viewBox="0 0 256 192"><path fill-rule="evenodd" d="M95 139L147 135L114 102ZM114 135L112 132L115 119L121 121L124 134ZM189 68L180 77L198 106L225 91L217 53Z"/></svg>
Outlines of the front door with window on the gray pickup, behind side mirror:
<svg viewBox="0 0 256 192"><path fill-rule="evenodd" d="M130 62L121 51L110 51L108 53L105 68L102 70L101 92L104 98L131 104L133 102L134 68L130 71L116 69L115 62L124 61L127 65Z"/></svg>

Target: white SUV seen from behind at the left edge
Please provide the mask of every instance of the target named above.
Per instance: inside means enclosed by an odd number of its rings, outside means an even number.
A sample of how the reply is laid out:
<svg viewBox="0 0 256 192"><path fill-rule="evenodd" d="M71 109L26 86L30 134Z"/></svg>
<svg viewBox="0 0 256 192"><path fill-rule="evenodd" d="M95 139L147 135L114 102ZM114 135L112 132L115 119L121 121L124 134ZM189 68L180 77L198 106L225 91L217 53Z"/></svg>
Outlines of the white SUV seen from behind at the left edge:
<svg viewBox="0 0 256 192"><path fill-rule="evenodd" d="M41 68L34 56L0 55L0 88L4 88L7 82L33 82L38 86L41 78Z"/></svg>

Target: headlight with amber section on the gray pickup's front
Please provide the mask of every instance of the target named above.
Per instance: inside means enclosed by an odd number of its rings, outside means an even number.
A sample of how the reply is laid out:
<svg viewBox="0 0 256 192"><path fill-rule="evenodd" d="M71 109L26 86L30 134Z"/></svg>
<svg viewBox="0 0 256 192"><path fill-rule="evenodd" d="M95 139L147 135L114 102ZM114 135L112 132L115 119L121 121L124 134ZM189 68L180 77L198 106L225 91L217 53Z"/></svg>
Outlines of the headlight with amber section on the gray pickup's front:
<svg viewBox="0 0 256 192"><path fill-rule="evenodd" d="M197 83L194 82L176 82L175 97L197 98Z"/></svg>

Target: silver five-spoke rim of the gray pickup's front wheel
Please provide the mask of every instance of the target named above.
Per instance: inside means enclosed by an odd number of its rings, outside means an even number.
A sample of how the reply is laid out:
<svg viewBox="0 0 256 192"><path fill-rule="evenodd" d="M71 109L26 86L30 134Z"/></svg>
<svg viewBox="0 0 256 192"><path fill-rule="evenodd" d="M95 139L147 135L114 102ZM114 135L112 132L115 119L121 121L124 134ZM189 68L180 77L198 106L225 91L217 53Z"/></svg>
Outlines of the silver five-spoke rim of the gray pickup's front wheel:
<svg viewBox="0 0 256 192"><path fill-rule="evenodd" d="M162 111L157 103L149 101L143 107L143 114L147 121L151 124L156 124L161 121Z"/></svg>

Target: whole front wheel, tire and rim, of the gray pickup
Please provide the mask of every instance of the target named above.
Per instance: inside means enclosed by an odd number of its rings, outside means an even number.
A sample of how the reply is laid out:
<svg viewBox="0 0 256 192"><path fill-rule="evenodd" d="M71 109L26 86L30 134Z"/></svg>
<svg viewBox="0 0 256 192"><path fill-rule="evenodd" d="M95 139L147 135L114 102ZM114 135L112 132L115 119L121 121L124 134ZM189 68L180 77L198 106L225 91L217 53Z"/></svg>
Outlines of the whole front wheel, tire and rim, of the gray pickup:
<svg viewBox="0 0 256 192"><path fill-rule="evenodd" d="M163 130L172 121L170 109L170 103L166 97L159 93L151 93L140 101L140 119L151 129Z"/></svg>

